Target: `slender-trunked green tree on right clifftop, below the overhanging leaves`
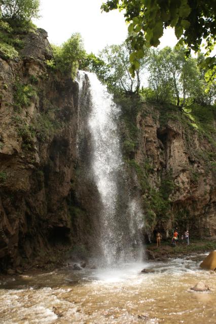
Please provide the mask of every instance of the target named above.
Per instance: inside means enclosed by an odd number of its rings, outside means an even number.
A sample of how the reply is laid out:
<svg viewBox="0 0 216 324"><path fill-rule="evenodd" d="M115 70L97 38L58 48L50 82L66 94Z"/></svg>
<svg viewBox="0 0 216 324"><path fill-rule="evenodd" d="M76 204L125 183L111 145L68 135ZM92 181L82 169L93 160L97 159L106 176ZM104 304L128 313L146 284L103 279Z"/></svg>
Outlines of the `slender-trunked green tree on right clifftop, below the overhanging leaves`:
<svg viewBox="0 0 216 324"><path fill-rule="evenodd" d="M152 50L149 64L149 87L160 102L185 106L196 97L199 70L197 60L186 59L185 48Z"/></svg>

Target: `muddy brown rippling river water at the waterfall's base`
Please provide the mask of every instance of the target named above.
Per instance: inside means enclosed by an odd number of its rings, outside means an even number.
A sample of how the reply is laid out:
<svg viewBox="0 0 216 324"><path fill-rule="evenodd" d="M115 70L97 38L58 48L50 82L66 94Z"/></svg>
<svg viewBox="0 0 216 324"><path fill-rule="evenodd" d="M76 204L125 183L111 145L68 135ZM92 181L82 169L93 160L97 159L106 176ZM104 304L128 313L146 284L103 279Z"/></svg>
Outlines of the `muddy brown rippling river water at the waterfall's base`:
<svg viewBox="0 0 216 324"><path fill-rule="evenodd" d="M199 268L204 257L3 279L0 322L216 323L216 273ZM143 268L155 272L140 273ZM199 281L211 290L191 291Z"/></svg>

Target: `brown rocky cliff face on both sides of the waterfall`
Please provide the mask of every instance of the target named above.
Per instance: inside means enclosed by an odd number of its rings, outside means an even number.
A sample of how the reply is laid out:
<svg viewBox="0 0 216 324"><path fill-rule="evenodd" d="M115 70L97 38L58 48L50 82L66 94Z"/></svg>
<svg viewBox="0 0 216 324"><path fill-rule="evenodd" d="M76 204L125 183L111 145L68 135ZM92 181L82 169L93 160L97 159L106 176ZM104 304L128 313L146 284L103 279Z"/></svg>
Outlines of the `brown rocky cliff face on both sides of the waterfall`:
<svg viewBox="0 0 216 324"><path fill-rule="evenodd" d="M56 262L68 249L85 256L99 230L97 189L83 177L90 162L82 157L91 155L85 109L77 151L78 84L46 64L52 57L46 31L27 33L23 42L13 60L0 53L2 270ZM213 135L173 107L142 104L125 116L126 172L141 195L143 234L168 236L178 226L195 236L216 235Z"/></svg>

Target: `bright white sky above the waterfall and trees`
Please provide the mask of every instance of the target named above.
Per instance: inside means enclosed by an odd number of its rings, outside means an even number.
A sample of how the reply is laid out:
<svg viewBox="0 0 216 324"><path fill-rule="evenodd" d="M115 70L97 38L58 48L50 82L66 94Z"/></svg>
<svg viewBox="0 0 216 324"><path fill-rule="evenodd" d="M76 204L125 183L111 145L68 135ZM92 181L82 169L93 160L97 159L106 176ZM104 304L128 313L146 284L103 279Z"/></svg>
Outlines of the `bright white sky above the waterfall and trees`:
<svg viewBox="0 0 216 324"><path fill-rule="evenodd" d="M105 0L41 0L41 18L34 20L47 30L50 43L60 45L72 33L80 32L88 53L97 54L106 45L120 44L127 37L123 13L101 13ZM165 30L160 47L174 46L172 29Z"/></svg>

